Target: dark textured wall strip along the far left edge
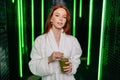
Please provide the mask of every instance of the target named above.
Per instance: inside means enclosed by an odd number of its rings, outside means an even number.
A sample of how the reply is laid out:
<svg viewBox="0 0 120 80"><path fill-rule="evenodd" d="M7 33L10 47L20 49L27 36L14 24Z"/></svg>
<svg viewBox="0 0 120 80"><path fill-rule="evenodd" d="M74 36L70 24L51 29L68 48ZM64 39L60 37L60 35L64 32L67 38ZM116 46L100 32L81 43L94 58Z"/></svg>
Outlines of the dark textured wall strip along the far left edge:
<svg viewBox="0 0 120 80"><path fill-rule="evenodd" d="M0 80L10 78L6 0L0 0Z"/></svg>

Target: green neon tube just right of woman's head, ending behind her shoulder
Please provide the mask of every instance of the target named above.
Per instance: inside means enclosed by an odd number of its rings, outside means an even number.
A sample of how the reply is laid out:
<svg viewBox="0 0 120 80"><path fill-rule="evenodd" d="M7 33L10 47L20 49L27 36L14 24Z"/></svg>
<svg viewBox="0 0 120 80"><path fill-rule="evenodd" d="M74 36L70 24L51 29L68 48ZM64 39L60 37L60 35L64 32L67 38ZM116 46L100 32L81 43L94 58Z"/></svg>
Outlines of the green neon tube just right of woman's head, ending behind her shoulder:
<svg viewBox="0 0 120 80"><path fill-rule="evenodd" d="M76 0L73 2L73 36L76 35Z"/></svg>

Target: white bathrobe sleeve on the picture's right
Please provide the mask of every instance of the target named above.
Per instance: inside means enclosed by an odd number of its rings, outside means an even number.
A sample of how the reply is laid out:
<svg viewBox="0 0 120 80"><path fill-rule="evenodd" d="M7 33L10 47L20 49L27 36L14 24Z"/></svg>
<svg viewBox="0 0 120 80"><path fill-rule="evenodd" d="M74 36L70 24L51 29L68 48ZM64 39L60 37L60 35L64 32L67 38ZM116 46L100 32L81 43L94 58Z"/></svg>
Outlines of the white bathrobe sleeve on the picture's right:
<svg viewBox="0 0 120 80"><path fill-rule="evenodd" d="M72 62L72 71L70 74L75 74L77 72L77 68L79 67L79 64L81 63L80 57L82 55L82 49L77 38L74 37L72 43L73 43L72 53L70 58L70 61Z"/></svg>

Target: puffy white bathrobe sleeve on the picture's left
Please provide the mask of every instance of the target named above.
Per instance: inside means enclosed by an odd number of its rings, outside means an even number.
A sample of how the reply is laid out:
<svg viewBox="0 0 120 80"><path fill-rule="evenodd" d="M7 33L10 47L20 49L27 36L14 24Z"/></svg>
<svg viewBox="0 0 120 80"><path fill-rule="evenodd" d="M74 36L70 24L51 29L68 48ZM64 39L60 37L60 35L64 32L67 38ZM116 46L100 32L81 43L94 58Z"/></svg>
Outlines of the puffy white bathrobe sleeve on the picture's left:
<svg viewBox="0 0 120 80"><path fill-rule="evenodd" d="M37 38L30 54L31 60L29 62L29 68L34 75L46 76L50 74L48 57L43 53L45 46L44 41L45 39L41 37Z"/></svg>

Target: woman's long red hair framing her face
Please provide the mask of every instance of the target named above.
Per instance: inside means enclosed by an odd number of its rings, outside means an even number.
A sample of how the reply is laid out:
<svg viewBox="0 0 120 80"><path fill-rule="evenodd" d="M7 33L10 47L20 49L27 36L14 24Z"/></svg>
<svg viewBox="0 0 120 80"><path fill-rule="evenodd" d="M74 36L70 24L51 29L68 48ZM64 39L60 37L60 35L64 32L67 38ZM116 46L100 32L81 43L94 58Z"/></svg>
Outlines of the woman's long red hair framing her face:
<svg viewBox="0 0 120 80"><path fill-rule="evenodd" d="M47 19L47 21L46 21L45 33L48 33L49 30L52 28L52 24L51 24L50 20L51 20L51 17L52 17L52 15L53 15L54 11L55 11L56 9L58 9L58 8L63 8L63 9L66 10L66 13L67 13L67 16L66 16L66 24L65 24L65 26L63 27L63 29L64 29L64 32L65 32L66 34L70 34L70 33L71 33L71 31L70 31L70 12L69 12L69 10L67 9L67 7L65 7L65 6L63 6L63 5L60 5L60 4L57 4L56 6L54 6L54 7L52 8L52 10L51 10L51 12L50 12L50 14L49 14L49 16L48 16L48 19Z"/></svg>

